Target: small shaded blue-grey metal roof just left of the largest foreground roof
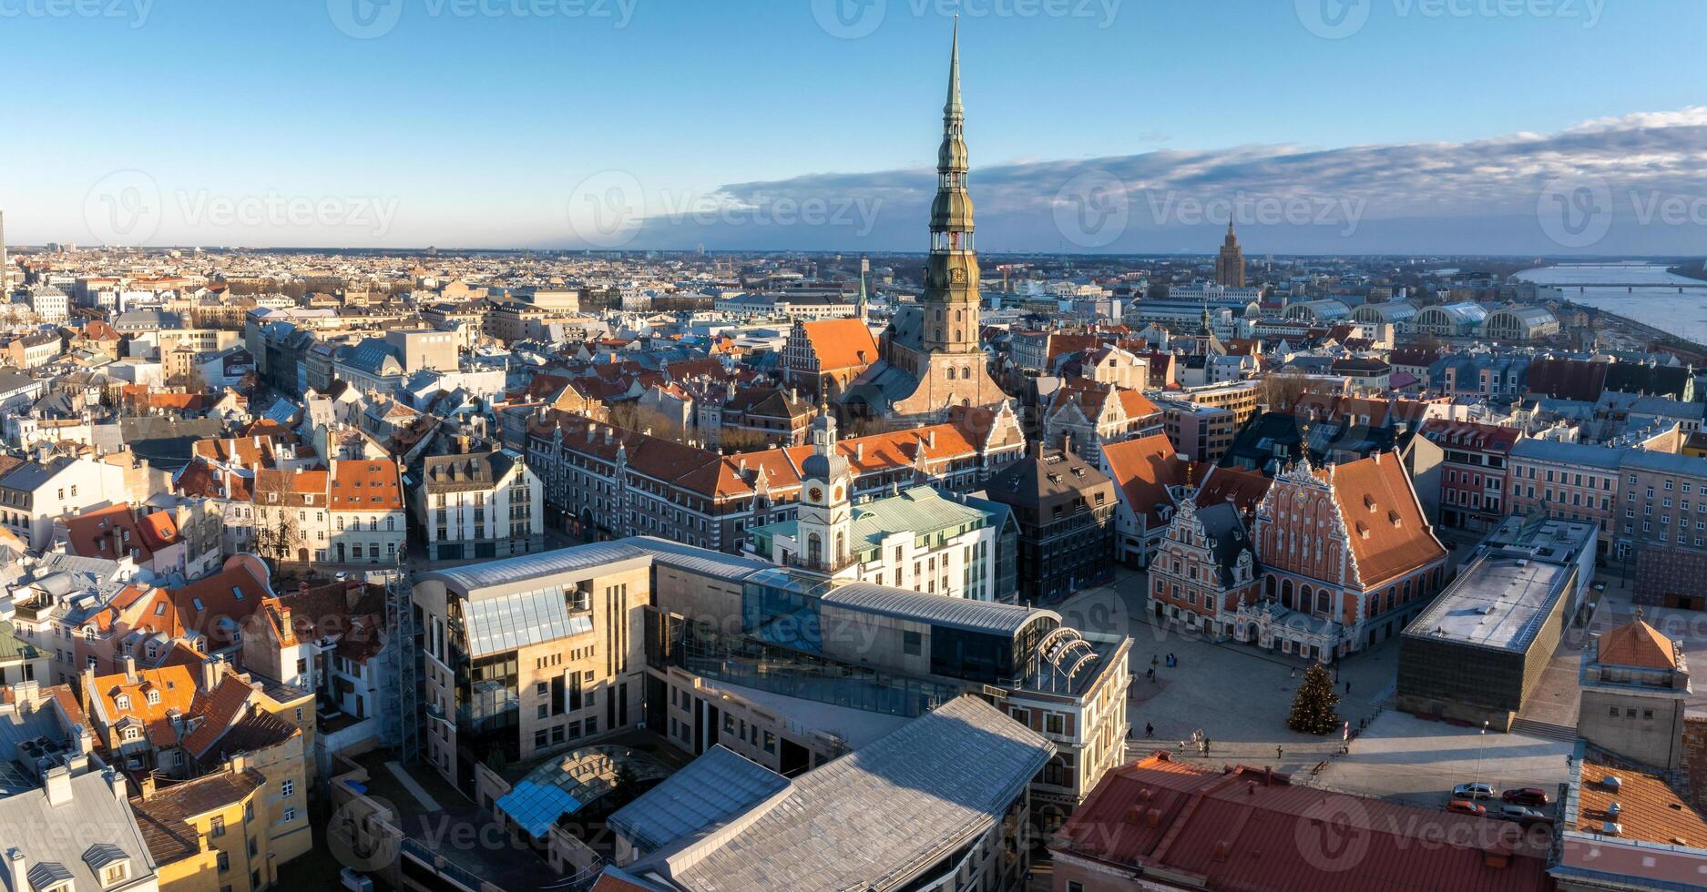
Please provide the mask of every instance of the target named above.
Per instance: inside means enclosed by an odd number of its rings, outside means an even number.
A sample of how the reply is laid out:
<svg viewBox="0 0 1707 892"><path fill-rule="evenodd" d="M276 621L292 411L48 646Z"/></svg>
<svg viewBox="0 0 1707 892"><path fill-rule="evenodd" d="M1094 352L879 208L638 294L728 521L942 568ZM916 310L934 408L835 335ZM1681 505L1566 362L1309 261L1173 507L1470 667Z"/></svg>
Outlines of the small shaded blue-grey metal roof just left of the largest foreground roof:
<svg viewBox="0 0 1707 892"><path fill-rule="evenodd" d="M787 786L782 774L719 744L618 808L609 825L649 854L744 814Z"/></svg>

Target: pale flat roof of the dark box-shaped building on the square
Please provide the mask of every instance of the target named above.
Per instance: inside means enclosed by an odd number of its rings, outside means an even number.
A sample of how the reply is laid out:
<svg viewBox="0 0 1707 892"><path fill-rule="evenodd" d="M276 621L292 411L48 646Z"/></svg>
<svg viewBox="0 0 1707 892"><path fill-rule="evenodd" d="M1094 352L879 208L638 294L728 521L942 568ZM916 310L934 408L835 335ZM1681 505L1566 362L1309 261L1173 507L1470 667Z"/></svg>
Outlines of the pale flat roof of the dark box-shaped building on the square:
<svg viewBox="0 0 1707 892"><path fill-rule="evenodd" d="M1570 568L1555 563L1483 554L1405 634L1523 653L1565 594L1569 578Z"/></svg>

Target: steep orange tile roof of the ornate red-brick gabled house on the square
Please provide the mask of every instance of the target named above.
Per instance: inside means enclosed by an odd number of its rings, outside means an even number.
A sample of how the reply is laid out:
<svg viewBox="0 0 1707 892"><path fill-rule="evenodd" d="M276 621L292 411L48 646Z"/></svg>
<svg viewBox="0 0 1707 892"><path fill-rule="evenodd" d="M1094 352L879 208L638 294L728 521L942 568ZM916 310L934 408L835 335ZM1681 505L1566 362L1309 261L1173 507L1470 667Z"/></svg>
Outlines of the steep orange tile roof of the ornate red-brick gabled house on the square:
<svg viewBox="0 0 1707 892"><path fill-rule="evenodd" d="M1398 455L1371 455L1316 471L1328 481L1366 588L1446 558L1429 530Z"/></svg>

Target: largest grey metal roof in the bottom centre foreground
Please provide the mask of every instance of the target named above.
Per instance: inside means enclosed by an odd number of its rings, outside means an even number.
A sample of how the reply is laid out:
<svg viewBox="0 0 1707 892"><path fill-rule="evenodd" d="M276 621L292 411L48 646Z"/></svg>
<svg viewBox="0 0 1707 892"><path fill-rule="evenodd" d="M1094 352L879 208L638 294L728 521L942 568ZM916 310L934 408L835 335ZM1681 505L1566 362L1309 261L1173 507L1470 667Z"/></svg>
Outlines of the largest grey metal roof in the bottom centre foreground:
<svg viewBox="0 0 1707 892"><path fill-rule="evenodd" d="M702 892L891 890L987 832L1055 752L963 696L802 774L673 880ZM657 868L637 863L637 873Z"/></svg>

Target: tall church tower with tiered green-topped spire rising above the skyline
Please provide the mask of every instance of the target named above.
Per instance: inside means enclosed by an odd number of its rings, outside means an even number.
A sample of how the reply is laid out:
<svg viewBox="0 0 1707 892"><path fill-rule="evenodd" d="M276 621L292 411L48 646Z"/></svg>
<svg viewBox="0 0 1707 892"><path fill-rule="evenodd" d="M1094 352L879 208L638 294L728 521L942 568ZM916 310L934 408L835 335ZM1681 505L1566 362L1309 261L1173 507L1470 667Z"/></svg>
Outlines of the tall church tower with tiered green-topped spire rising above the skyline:
<svg viewBox="0 0 1707 892"><path fill-rule="evenodd" d="M886 414L898 421L941 418L954 406L997 406L1007 394L985 368L978 341L978 254L973 251L971 194L966 191L966 107L959 90L959 20L949 55L949 97L937 150L937 198L930 205L930 256L925 293L898 314L888 334L889 365L917 385Z"/></svg>

